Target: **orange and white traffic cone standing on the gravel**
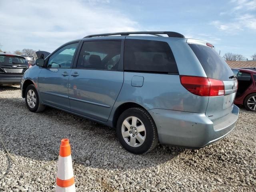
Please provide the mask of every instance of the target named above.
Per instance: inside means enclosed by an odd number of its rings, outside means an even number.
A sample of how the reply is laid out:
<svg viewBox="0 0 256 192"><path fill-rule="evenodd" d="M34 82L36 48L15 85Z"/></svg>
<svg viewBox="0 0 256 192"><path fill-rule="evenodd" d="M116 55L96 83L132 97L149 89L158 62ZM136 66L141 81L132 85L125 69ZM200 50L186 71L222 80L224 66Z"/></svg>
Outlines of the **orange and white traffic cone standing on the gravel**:
<svg viewBox="0 0 256 192"><path fill-rule="evenodd" d="M71 149L68 139L62 139L58 172L56 179L56 192L75 192L75 180L72 166Z"/></svg>

